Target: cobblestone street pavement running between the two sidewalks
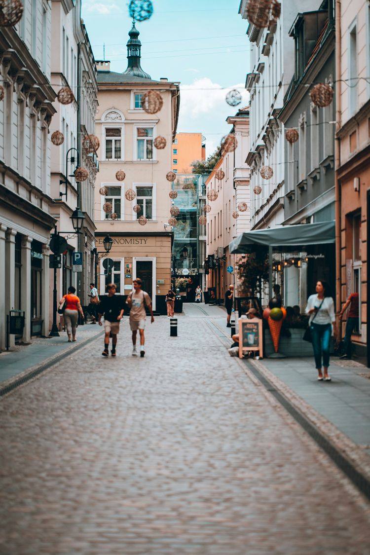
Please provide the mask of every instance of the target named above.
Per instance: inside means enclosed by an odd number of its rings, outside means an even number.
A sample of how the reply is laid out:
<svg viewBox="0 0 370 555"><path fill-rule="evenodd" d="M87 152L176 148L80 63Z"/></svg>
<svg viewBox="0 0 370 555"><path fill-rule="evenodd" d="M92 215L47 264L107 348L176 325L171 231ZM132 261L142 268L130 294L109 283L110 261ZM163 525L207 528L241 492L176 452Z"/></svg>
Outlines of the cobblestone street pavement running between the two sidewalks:
<svg viewBox="0 0 370 555"><path fill-rule="evenodd" d="M224 315L222 314L222 317ZM0 553L368 554L369 504L207 317L128 322L0 403Z"/></svg>

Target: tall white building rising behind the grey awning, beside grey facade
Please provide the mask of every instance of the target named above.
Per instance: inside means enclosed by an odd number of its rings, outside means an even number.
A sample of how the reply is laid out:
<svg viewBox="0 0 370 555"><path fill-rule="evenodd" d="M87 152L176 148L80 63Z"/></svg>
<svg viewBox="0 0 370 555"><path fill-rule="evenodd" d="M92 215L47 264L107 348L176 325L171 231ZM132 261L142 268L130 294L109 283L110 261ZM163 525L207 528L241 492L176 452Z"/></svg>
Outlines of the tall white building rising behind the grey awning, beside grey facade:
<svg viewBox="0 0 370 555"><path fill-rule="evenodd" d="M247 0L241 0L239 13L247 19ZM298 12L312 6L309 0L285 0L281 15L266 29L250 23L250 73L246 89L250 93L251 228L280 226L284 220L284 141L283 126L277 115L294 73L294 44L288 31ZM270 166L273 175L263 179L262 166ZM262 192L255 194L256 186Z"/></svg>

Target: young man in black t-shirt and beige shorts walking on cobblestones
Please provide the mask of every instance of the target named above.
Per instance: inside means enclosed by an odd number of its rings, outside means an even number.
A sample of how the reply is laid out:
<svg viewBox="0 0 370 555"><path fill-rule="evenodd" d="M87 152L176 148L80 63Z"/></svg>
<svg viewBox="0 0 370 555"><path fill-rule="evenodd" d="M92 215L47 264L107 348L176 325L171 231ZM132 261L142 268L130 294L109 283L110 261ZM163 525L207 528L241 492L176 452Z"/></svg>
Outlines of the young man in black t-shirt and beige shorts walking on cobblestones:
<svg viewBox="0 0 370 555"><path fill-rule="evenodd" d="M117 345L117 335L119 333L119 323L123 316L124 304L122 297L116 295L117 286L114 283L107 285L108 295L100 299L98 308L99 326L102 326L102 316L104 315L104 351L103 356L109 356L109 337L111 340L111 356L116 356L115 348Z"/></svg>

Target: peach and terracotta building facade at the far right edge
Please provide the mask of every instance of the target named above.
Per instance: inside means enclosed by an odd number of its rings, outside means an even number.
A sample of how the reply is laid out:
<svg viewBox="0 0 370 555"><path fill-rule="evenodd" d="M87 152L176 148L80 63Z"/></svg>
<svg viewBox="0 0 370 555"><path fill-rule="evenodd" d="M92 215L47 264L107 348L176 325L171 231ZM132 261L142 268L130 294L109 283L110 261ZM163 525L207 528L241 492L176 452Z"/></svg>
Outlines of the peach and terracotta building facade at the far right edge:
<svg viewBox="0 0 370 555"><path fill-rule="evenodd" d="M336 38L336 240L337 309L359 294L359 321L352 343L370 366L370 4L338 3ZM343 318L342 336L346 325Z"/></svg>

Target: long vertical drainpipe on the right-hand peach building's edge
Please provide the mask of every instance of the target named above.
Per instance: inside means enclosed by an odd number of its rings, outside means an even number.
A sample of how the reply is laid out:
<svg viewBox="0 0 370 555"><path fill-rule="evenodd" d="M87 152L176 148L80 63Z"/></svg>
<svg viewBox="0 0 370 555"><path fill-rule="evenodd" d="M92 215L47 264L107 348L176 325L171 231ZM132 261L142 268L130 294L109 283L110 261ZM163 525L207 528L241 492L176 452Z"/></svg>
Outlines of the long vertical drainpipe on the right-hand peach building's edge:
<svg viewBox="0 0 370 555"><path fill-rule="evenodd" d="M336 58L336 132L342 127L341 113L341 0L335 3L335 58ZM341 310L341 189L338 170L341 165L341 143L339 137L334 141L335 167L335 249L336 249L336 310ZM338 322L337 322L338 323ZM338 340L341 339L341 326L337 326Z"/></svg>

